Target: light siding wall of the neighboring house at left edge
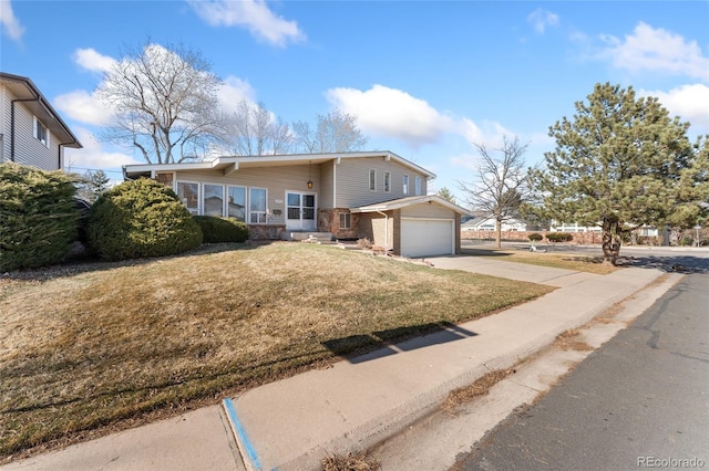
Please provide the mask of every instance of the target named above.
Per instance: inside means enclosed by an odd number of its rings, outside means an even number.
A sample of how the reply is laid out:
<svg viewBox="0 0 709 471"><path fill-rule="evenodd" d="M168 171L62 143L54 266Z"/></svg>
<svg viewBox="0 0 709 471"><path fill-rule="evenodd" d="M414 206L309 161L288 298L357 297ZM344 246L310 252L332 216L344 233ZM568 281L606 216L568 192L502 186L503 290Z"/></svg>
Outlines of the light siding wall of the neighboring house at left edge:
<svg viewBox="0 0 709 471"><path fill-rule="evenodd" d="M2 87L2 161L11 159L11 108L12 100L16 98L9 90ZM49 148L34 137L33 116L22 102L14 103L14 161L43 170L58 170L61 168L58 157L59 140L49 128Z"/></svg>

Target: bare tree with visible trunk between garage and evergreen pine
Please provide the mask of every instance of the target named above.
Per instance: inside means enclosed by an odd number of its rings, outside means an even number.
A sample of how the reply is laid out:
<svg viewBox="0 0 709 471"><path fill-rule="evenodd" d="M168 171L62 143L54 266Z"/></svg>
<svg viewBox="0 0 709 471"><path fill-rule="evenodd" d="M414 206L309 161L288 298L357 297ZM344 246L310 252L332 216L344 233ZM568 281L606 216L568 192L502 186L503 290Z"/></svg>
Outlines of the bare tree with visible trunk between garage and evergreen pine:
<svg viewBox="0 0 709 471"><path fill-rule="evenodd" d="M503 137L502 147L487 149L484 144L473 143L480 154L475 179L459 181L472 208L490 213L495 220L495 247L501 247L502 223L518 216L520 207L531 195L524 153L527 145L521 145ZM499 153L500 158L493 153Z"/></svg>

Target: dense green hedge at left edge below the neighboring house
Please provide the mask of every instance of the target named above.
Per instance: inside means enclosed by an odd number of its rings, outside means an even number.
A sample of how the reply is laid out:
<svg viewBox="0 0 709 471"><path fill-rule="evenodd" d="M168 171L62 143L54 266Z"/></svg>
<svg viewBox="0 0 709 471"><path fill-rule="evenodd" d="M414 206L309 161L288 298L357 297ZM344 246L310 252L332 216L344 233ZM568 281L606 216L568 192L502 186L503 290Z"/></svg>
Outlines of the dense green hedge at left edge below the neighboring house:
<svg viewBox="0 0 709 471"><path fill-rule="evenodd" d="M76 240L74 177L0 164L0 272L61 262Z"/></svg>

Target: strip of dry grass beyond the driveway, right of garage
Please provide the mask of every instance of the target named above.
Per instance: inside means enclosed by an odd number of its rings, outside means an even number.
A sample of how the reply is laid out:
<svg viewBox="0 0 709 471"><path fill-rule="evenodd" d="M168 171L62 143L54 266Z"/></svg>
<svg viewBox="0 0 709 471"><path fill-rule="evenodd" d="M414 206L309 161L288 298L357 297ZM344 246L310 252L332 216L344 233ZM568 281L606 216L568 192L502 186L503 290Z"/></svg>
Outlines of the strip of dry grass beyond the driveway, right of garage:
<svg viewBox="0 0 709 471"><path fill-rule="evenodd" d="M528 252L506 249L462 249L461 252L465 255L490 257L505 262L526 263L530 265L551 266L554 269L596 274L608 274L620 270L620 266L603 264L602 257L588 257L573 252Z"/></svg>

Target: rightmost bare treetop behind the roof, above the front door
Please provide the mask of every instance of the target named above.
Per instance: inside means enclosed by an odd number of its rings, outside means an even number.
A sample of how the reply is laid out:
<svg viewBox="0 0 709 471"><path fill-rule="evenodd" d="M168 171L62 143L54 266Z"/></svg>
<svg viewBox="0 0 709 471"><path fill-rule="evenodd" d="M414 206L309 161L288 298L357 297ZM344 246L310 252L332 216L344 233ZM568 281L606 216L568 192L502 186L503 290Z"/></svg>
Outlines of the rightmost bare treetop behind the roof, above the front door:
<svg viewBox="0 0 709 471"><path fill-rule="evenodd" d="M309 154L360 150L369 140L357 126L357 116L336 108L317 116L314 129L306 122L294 123L292 130L300 149Z"/></svg>

